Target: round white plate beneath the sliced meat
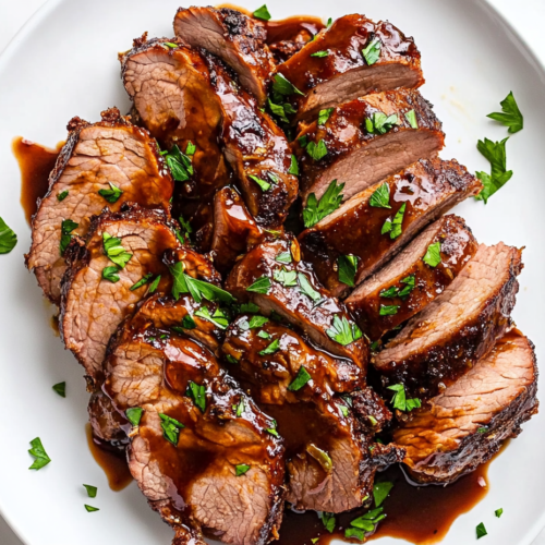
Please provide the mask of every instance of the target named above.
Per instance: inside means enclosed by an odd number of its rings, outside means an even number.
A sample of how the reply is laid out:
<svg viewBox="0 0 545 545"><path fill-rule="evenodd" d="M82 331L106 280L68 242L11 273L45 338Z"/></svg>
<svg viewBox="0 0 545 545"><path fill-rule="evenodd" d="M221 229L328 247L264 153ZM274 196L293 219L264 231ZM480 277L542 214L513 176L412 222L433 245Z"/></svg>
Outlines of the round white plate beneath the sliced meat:
<svg viewBox="0 0 545 545"><path fill-rule="evenodd" d="M73 116L96 121L109 106L126 110L117 52L129 49L144 31L171 36L178 5L177 0L50 1L0 59L0 216L20 239L11 254L0 256L0 511L27 545L170 543L171 531L137 487L111 492L87 449L83 370L53 336L51 308L23 265L29 229L19 204L20 175L10 145L16 135L55 145L65 137ZM487 206L467 202L457 213L482 242L526 246L513 315L536 342L542 360L545 73L525 46L487 4L475 0L380 0L364 5L354 0L299 0L296 9L288 0L269 0L268 5L278 19L298 13L337 17L365 10L413 35L427 78L422 93L435 104L447 133L441 155L458 158L470 170L488 168L475 144L484 136L507 135L485 116L514 92L525 114L524 130L507 148L514 175ZM66 399L51 390L60 380L68 383ZM545 524L544 429L542 415L524 425L524 433L492 464L489 494L455 522L445 544L472 542L480 522L488 530L491 545L531 543ZM32 472L26 451L36 436L52 462ZM83 483L98 486L95 500L86 499ZM83 505L88 501L100 511L87 513ZM499 507L504 517L496 519Z"/></svg>

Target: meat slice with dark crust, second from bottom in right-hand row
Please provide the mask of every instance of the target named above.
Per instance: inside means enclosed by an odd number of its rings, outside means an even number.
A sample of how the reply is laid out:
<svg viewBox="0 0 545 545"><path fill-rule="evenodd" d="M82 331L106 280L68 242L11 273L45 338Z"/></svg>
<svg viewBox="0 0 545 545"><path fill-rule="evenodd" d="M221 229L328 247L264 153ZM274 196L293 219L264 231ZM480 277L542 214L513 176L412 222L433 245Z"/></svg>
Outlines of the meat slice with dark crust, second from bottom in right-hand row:
<svg viewBox="0 0 545 545"><path fill-rule="evenodd" d="M374 358L385 385L436 396L467 373L510 325L521 251L481 244L453 282Z"/></svg>

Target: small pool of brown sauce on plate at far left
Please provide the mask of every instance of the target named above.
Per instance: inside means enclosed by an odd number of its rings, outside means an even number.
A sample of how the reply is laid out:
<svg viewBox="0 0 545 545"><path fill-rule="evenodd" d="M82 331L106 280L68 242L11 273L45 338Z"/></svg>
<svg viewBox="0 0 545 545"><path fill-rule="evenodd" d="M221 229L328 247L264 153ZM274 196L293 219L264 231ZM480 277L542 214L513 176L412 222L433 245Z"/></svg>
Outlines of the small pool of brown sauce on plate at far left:
<svg viewBox="0 0 545 545"><path fill-rule="evenodd" d="M21 170L21 205L28 225L38 208L38 198L44 197L49 187L49 173L53 170L60 148L50 149L17 136L13 140L12 150Z"/></svg>

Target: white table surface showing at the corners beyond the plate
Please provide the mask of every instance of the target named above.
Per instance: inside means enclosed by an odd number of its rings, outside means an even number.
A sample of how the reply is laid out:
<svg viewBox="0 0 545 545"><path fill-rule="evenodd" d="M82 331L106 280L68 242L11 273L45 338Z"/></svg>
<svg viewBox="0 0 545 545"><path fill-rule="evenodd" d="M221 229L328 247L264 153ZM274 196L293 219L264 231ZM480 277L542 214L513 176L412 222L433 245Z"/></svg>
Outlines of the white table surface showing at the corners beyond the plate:
<svg viewBox="0 0 545 545"><path fill-rule="evenodd" d="M410 1L410 0L408 0ZM443 0L445 1L445 0ZM456 0L448 0L455 1ZM536 57L545 64L545 41L543 21L545 17L544 0L488 0L489 3L508 20L520 33ZM46 3L46 0L0 0L0 53L16 35L19 29L34 13ZM181 2L183 3L183 2ZM186 3L186 2L185 2ZM190 2L191 3L191 2ZM210 2L216 3L216 2ZM218 2L219 3L219 2ZM237 3L237 2L233 2ZM493 545L491 541L487 545ZM0 516L0 545L23 545ZM513 544L516 545L516 544ZM545 545L545 529L536 537L533 545Z"/></svg>

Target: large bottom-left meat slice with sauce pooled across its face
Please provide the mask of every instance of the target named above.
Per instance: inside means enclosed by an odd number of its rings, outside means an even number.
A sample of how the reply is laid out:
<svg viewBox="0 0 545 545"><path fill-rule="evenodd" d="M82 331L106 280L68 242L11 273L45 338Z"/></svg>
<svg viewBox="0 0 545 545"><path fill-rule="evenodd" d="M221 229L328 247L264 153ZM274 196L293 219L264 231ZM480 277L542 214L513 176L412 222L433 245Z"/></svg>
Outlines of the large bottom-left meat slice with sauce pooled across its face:
<svg viewBox="0 0 545 545"><path fill-rule="evenodd" d="M197 540L208 531L223 543L268 543L283 510L281 439L211 352L153 323L126 324L105 370L118 410L143 410L129 464L166 522Z"/></svg>

